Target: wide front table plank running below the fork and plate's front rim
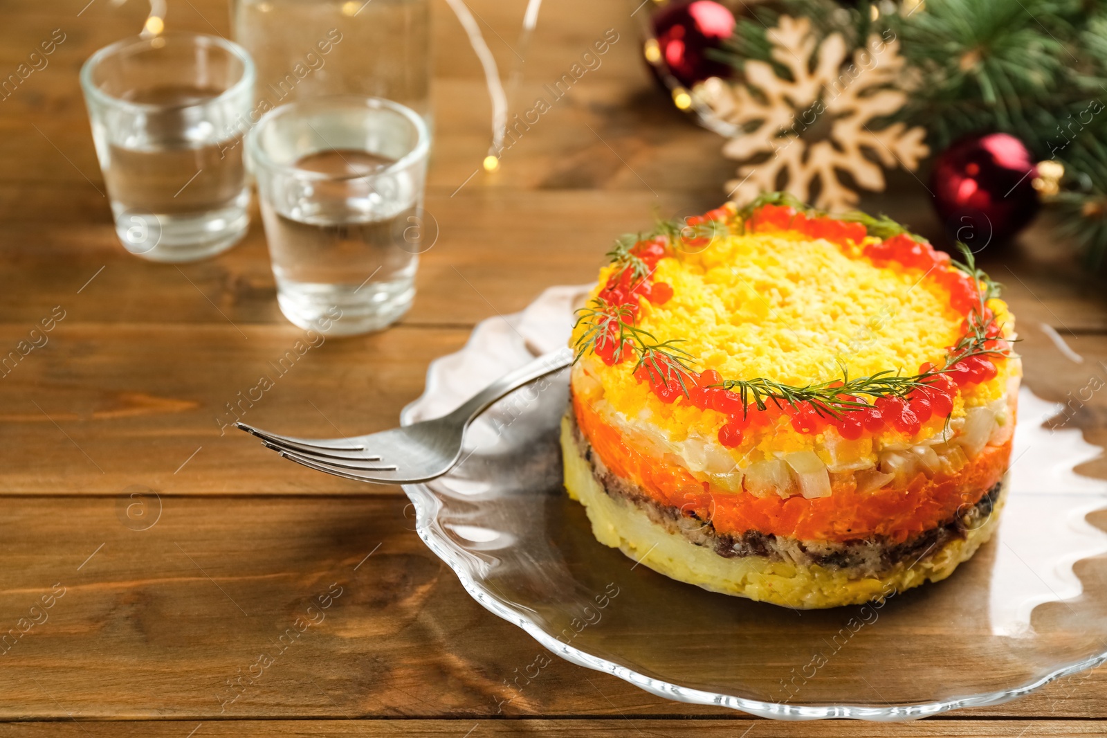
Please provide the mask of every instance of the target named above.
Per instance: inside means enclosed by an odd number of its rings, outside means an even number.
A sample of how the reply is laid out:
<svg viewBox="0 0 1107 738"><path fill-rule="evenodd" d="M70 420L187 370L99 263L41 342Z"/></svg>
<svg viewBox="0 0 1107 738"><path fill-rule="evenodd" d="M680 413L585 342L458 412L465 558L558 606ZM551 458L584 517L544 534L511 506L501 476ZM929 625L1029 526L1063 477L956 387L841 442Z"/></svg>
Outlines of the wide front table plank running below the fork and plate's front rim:
<svg viewBox="0 0 1107 738"><path fill-rule="evenodd" d="M532 684L508 688L547 652L465 594L412 532L403 499L121 494L12 498L0 510L0 633L40 621L0 655L0 718L744 719L552 655ZM32 613L52 588L61 596ZM278 653L298 617L319 622ZM273 663L231 690L261 652ZM1104 687L1098 669L959 717L1101 717Z"/></svg>

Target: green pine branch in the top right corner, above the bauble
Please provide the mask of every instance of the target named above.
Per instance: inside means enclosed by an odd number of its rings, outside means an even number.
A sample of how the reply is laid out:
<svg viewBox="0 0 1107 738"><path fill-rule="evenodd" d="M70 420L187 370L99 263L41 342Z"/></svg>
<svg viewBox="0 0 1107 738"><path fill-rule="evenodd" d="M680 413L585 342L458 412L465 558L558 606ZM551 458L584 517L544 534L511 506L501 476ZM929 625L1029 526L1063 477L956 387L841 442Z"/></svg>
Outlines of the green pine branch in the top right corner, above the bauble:
<svg viewBox="0 0 1107 738"><path fill-rule="evenodd" d="M1046 158L1058 126L1107 84L1104 22L1076 0L927 0L893 20L915 73L901 117L924 125L935 151L1003 131Z"/></svg>

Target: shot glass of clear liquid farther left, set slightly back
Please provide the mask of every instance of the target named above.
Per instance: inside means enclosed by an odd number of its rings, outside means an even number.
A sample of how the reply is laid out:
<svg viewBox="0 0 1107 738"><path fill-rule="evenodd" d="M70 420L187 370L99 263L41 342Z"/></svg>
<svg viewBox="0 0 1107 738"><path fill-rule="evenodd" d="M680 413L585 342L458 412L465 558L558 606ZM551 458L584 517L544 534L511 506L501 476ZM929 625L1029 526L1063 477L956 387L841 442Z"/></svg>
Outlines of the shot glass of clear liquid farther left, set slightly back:
<svg viewBox="0 0 1107 738"><path fill-rule="evenodd" d="M125 39L84 63L81 88L124 248L192 262L246 234L241 120L254 98L246 51L198 33Z"/></svg>

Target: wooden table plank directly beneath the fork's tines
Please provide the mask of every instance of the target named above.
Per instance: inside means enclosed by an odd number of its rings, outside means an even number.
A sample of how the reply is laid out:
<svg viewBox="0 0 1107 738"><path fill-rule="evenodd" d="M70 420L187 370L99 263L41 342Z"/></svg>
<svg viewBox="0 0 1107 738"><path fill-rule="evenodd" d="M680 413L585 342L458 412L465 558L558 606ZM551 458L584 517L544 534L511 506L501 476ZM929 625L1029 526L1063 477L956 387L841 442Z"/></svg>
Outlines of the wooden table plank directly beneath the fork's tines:
<svg viewBox="0 0 1107 738"><path fill-rule="evenodd" d="M82 322L74 304L39 335L44 346L0 363L7 494L115 494L132 484L159 493L380 493L386 488L280 463L230 423L306 437L385 430L422 393L426 365L468 331L397 328L331 340L288 324ZM30 340L28 328L0 326L6 356L10 348L19 357Z"/></svg>

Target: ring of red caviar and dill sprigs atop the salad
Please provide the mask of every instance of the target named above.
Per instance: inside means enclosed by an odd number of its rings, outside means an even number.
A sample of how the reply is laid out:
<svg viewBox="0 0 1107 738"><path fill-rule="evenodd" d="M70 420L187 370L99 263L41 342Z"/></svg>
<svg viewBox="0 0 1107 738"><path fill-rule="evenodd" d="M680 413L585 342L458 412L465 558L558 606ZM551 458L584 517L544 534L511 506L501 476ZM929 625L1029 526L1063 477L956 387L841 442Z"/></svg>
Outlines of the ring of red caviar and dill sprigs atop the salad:
<svg viewBox="0 0 1107 738"><path fill-rule="evenodd" d="M637 327L640 299L659 306L672 299L672 286L652 279L658 262L680 257L732 228L792 229L844 245L877 236L881 240L865 245L862 254L878 265L897 262L924 276L937 273L951 305L966 315L963 335L949 347L941 366L924 363L915 375L881 371L850 378L842 365L840 379L794 386L763 377L725 379L713 369L696 372L695 357L680 346L683 339L659 341ZM963 244L959 247L963 262L935 252L887 216L855 213L831 218L786 193L763 195L743 211L716 208L683 224L661 221L651 233L620 237L608 254L612 265L608 281L590 306L578 311L576 327L584 330L576 341L576 359L589 351L608 366L632 359L632 373L663 402L681 400L725 414L727 422L720 431L724 445L739 444L751 423L775 422L780 416L787 416L800 433L834 426L847 439L886 429L913 434L931 418L948 419L958 389L993 379L999 372L995 361L1011 356L1002 326L987 307L987 300L999 296L1000 285L976 267Z"/></svg>

